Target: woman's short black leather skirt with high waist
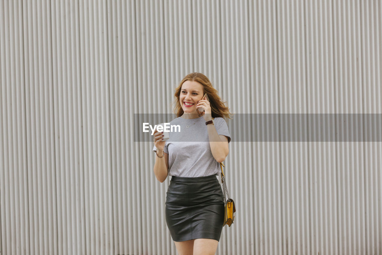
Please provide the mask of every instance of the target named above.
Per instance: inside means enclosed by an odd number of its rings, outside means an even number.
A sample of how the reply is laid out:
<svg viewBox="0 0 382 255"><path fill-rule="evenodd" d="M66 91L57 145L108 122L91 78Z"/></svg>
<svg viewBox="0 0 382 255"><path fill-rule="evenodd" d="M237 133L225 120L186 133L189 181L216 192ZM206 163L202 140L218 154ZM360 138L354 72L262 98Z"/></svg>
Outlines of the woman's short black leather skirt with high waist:
<svg viewBox="0 0 382 255"><path fill-rule="evenodd" d="M176 242L220 240L224 221L223 191L216 175L173 176L166 196L166 223Z"/></svg>

